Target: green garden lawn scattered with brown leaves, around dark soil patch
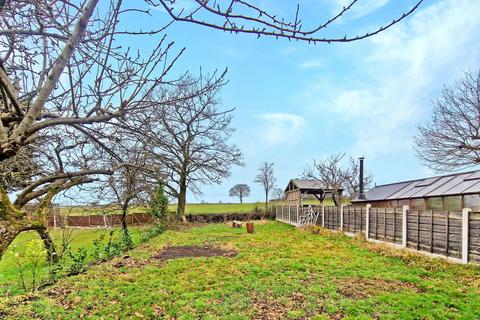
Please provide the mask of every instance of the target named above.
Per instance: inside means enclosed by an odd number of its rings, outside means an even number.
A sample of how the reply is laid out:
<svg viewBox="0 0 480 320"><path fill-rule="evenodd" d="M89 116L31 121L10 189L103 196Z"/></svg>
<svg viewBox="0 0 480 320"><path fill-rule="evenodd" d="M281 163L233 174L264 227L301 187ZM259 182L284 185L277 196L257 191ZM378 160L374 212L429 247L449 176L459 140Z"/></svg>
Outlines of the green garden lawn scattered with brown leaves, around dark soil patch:
<svg viewBox="0 0 480 320"><path fill-rule="evenodd" d="M159 260L166 246L234 257ZM256 222L168 231L36 295L0 298L16 319L478 319L480 268L343 235Z"/></svg>

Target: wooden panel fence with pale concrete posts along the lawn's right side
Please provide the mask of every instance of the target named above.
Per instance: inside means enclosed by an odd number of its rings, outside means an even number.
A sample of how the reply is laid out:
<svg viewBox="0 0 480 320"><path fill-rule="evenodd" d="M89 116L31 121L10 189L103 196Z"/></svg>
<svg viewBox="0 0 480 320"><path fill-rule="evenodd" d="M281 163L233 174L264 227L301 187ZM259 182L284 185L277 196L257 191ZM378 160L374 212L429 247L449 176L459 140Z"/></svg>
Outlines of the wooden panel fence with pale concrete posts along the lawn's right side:
<svg viewBox="0 0 480 320"><path fill-rule="evenodd" d="M388 242L462 263L480 263L480 212L409 210L408 206L310 206L316 225L346 233L363 233L367 240ZM276 206L276 219L300 226L305 208ZM367 223L368 222L368 223Z"/></svg>

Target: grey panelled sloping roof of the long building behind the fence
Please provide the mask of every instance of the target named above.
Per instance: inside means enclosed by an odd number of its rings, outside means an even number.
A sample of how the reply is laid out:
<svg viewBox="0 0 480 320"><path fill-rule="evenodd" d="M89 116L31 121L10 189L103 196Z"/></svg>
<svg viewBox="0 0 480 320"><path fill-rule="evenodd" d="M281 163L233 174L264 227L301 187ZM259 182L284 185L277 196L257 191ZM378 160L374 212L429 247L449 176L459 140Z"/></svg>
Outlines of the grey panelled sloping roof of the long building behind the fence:
<svg viewBox="0 0 480 320"><path fill-rule="evenodd" d="M480 170L375 186L365 199L352 202L401 200L480 193Z"/></svg>

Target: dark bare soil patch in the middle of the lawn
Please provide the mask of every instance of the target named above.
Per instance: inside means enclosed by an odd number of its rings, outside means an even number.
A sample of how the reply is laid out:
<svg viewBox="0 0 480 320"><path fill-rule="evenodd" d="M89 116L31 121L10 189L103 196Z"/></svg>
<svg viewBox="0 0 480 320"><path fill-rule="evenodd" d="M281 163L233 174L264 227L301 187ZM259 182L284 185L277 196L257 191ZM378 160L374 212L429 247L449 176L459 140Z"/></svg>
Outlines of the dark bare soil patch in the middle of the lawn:
<svg viewBox="0 0 480 320"><path fill-rule="evenodd" d="M235 250L222 249L214 246L169 246L154 255L160 261L187 257L234 257Z"/></svg>

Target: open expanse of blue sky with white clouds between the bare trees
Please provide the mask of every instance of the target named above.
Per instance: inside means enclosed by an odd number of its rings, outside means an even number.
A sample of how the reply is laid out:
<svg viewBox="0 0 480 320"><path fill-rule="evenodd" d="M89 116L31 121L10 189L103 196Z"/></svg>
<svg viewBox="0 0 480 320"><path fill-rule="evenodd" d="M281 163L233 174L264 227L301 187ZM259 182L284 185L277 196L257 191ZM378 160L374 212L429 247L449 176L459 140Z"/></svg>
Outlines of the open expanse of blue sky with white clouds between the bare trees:
<svg viewBox="0 0 480 320"><path fill-rule="evenodd" d="M414 1L360 0L331 34L359 33L390 21ZM188 5L187 0L181 3ZM261 1L279 16L291 16L294 1ZM302 1L305 23L318 23L342 1ZM434 174L415 157L412 137L429 118L431 100L463 71L480 67L480 1L426 1L407 20L368 40L347 44L301 42L230 35L174 23L168 38L187 51L173 75L228 67L225 107L236 107L231 142L245 155L221 185L205 186L190 202L234 202L236 183L252 188L263 161L275 163L277 184L301 175L313 158L332 153L366 157L377 184ZM157 10L154 17L167 19ZM350 34L351 32L349 32Z"/></svg>

